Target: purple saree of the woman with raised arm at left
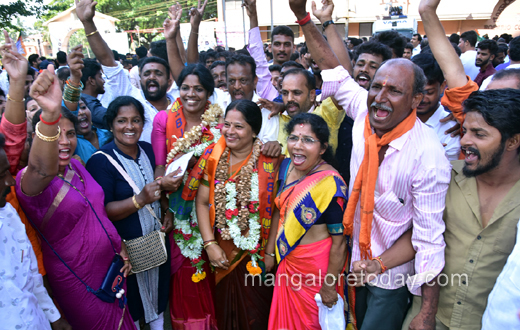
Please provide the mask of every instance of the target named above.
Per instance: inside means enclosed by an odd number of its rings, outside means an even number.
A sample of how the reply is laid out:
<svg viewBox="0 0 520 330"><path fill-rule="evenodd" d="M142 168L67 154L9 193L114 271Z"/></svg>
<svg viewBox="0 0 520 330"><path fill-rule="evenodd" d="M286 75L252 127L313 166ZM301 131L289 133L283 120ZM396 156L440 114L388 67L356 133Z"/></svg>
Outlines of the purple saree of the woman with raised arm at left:
<svg viewBox="0 0 520 330"><path fill-rule="evenodd" d="M97 290L110 266L114 251L94 212L81 194L58 177L39 195L25 195L20 188L24 173L25 169L16 176L16 195L20 205L67 265L85 283ZM89 199L119 252L121 238L105 212L101 187L75 159L71 160L64 177ZM118 329L123 316L118 301L109 304L88 292L45 242L42 242L41 247L54 298L72 328ZM135 329L128 308L121 329Z"/></svg>

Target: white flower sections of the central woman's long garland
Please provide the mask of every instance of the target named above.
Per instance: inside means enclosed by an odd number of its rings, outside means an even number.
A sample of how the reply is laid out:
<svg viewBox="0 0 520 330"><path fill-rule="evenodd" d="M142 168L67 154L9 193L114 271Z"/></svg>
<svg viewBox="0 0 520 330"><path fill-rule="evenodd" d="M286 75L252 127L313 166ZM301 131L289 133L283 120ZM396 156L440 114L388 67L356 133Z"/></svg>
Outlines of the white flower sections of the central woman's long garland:
<svg viewBox="0 0 520 330"><path fill-rule="evenodd" d="M228 181L225 184L226 188L226 210L234 210L237 208L237 200L236 200L236 184L234 182ZM253 172L253 176L251 178L251 201L258 201L258 173ZM262 226L259 222L259 212L251 213L249 218L249 232L247 237L242 236L242 231L238 227L238 217L233 215L231 219L226 221L226 224L229 228L229 234L231 238L233 238L233 243L235 246L241 250L254 250L258 242L260 241L260 229Z"/></svg>

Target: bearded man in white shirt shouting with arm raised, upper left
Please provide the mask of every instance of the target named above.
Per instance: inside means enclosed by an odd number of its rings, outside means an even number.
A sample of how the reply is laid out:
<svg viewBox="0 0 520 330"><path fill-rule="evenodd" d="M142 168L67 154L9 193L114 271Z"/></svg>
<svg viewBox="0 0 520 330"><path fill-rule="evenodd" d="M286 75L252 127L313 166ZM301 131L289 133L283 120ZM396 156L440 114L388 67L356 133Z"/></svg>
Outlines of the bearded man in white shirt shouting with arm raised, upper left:
<svg viewBox="0 0 520 330"><path fill-rule="evenodd" d="M145 109L145 124L141 140L151 142L153 118L159 111L166 110L175 100L174 96L167 93L173 83L170 67L162 58L154 56L144 58L139 64L142 90L134 87L121 63L114 60L112 51L94 24L96 4L97 2L92 0L76 1L76 14L85 28L87 40L106 76L105 93L98 98L105 108L113 99L121 95L133 96L139 100Z"/></svg>

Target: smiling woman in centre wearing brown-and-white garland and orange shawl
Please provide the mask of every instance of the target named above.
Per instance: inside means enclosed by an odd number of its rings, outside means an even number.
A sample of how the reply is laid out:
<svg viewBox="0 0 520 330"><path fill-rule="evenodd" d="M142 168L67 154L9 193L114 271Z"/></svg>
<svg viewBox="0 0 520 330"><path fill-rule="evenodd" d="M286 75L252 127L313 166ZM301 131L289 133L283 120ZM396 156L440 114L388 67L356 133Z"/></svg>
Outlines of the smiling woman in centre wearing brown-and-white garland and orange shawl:
<svg viewBox="0 0 520 330"><path fill-rule="evenodd" d="M260 282L279 158L261 155L260 108L232 102L197 194L197 218L215 267L219 329L267 329L272 287ZM209 205L209 208L208 208Z"/></svg>

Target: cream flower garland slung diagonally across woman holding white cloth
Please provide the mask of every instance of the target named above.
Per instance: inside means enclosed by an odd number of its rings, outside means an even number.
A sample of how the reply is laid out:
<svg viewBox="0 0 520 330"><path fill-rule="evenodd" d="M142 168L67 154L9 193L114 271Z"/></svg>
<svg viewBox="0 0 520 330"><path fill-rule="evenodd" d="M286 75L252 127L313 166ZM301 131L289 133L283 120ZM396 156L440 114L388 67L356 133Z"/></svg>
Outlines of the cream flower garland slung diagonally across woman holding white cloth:
<svg viewBox="0 0 520 330"><path fill-rule="evenodd" d="M178 111L182 111L182 108ZM177 140L172 144L172 149L168 153L168 156L166 157L166 163L169 164L170 161L175 158L175 156L179 152L185 152L186 150L189 150L193 148L193 145L196 142L200 141L200 138L202 137L204 133L204 129L211 130L211 127L217 126L217 120L219 117L221 117L224 114L222 111L222 108L218 104L210 104L202 116L200 117L201 123L200 125L193 126L189 132L185 132L184 136L177 138L175 135L172 135L172 138L176 138ZM211 130L213 133L213 130ZM216 139L214 139L216 141ZM207 142L206 142L207 143ZM211 144L208 143L208 145ZM198 150L198 149L197 149ZM201 154L204 149L201 150Z"/></svg>

